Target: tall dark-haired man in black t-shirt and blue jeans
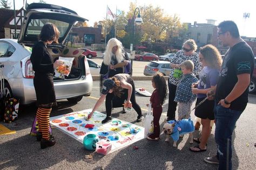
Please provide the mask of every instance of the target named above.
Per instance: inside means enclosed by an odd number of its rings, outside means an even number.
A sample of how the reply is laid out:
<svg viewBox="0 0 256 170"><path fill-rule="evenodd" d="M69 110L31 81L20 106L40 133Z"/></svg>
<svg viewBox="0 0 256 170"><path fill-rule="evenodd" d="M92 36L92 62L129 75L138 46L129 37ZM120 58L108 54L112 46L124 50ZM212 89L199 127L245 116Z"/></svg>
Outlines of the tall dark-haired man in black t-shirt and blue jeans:
<svg viewBox="0 0 256 170"><path fill-rule="evenodd" d="M252 48L240 38L237 25L228 20L218 25L218 38L230 47L224 56L215 93L215 141L217 155L205 158L219 169L232 169L232 133L248 102L248 86L254 68ZM212 91L207 98L212 100Z"/></svg>

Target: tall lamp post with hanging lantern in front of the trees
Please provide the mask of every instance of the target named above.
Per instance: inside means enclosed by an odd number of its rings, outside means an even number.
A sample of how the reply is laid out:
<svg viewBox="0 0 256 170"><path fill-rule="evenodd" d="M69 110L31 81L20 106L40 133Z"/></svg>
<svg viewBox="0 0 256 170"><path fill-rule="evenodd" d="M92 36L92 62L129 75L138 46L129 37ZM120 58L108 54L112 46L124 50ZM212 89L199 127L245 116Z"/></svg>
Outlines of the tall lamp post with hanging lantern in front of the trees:
<svg viewBox="0 0 256 170"><path fill-rule="evenodd" d="M136 19L135 19L135 16L137 16ZM138 7L134 9L133 20L132 20L133 29L132 29L132 43L130 45L130 51L133 54L132 55L133 57L131 58L131 75L132 75L132 59L134 59L134 56L135 56L135 53L133 52L135 23L137 25L140 25L143 23L143 20L140 17L140 11Z"/></svg>

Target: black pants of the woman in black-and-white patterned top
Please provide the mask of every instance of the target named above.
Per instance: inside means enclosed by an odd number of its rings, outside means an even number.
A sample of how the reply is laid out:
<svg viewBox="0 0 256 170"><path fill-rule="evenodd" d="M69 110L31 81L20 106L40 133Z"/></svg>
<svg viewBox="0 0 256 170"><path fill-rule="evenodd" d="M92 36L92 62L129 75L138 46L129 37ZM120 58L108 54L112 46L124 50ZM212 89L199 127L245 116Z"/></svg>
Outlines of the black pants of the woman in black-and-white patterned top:
<svg viewBox="0 0 256 170"><path fill-rule="evenodd" d="M169 103L168 103L168 110L167 110L167 117L169 119L175 119L175 111L177 107L177 102L174 102L175 94L177 86L168 82L169 88Z"/></svg>

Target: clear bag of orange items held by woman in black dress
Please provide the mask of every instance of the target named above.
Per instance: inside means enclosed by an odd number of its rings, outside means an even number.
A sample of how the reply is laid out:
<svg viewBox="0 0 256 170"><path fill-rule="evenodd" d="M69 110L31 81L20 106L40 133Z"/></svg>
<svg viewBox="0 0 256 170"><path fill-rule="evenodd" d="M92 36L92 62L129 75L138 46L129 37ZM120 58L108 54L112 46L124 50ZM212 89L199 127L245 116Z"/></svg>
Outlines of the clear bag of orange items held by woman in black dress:
<svg viewBox="0 0 256 170"><path fill-rule="evenodd" d="M63 65L55 68L55 77L64 79L65 76L69 76L74 58L59 56L58 60L63 61Z"/></svg>

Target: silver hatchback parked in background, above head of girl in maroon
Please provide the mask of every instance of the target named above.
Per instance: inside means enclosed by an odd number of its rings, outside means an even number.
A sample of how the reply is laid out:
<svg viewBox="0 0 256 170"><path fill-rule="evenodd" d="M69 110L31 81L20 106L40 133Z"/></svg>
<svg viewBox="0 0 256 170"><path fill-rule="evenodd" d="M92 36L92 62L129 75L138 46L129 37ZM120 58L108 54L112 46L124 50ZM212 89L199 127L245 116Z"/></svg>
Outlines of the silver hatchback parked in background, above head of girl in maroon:
<svg viewBox="0 0 256 170"><path fill-rule="evenodd" d="M171 66L169 61L151 61L144 68L144 75L154 75L161 72L164 75L169 75Z"/></svg>

